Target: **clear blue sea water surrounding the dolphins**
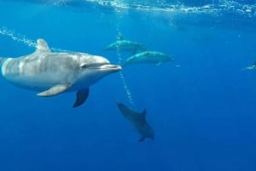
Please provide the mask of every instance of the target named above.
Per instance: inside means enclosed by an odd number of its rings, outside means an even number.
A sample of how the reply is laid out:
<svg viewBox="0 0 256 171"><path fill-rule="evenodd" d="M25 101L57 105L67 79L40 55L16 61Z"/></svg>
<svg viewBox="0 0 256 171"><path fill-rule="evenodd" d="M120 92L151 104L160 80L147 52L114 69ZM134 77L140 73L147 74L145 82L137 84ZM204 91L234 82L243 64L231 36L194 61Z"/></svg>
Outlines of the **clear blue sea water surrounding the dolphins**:
<svg viewBox="0 0 256 171"><path fill-rule="evenodd" d="M175 60L134 65L75 94L39 98L0 79L1 171L255 171L256 2L0 1L0 56L105 56L120 33ZM121 60L129 57L122 53ZM125 84L124 84L125 83ZM125 87L125 85L127 87ZM155 140L137 142L115 100L147 109Z"/></svg>

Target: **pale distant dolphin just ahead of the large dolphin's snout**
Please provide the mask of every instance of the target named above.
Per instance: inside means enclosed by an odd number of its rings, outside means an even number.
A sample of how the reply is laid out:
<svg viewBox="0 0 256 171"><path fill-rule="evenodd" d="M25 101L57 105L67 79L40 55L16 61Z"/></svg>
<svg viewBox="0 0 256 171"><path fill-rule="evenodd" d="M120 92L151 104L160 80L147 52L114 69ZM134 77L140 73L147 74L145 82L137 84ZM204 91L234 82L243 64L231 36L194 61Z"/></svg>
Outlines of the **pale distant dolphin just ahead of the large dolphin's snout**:
<svg viewBox="0 0 256 171"><path fill-rule="evenodd" d="M172 61L172 57L167 54L163 54L157 51L145 51L139 54L134 54L127 60L125 60L122 66L128 66L131 64L146 64L153 63L156 66L160 66L163 62Z"/></svg>

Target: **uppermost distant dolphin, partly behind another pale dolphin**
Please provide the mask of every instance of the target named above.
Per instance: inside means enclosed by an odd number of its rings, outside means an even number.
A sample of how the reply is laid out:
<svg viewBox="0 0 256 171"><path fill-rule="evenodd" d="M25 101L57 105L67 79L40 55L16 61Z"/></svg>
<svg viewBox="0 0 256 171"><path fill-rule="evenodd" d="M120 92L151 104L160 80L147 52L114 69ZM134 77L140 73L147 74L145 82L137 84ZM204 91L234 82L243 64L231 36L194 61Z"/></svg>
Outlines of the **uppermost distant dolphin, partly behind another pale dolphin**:
<svg viewBox="0 0 256 171"><path fill-rule="evenodd" d="M141 43L131 42L128 40L118 40L114 43L109 44L105 50L114 50L114 51L126 51L131 54L136 54L137 51L145 51L147 48Z"/></svg>

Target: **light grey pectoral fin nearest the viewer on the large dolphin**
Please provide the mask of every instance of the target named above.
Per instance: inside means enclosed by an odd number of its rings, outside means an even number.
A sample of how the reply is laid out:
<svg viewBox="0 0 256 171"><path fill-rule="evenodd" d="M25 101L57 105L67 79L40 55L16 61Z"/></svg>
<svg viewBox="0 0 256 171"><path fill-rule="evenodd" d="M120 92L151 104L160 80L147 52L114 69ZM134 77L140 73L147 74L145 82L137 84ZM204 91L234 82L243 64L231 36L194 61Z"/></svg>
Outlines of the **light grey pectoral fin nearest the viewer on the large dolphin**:
<svg viewBox="0 0 256 171"><path fill-rule="evenodd" d="M54 87L49 88L46 91L43 91L41 93L38 93L38 96L41 97L49 97L49 96L54 96L57 94L61 94L64 91L66 91L68 88L70 88L69 84L57 84Z"/></svg>

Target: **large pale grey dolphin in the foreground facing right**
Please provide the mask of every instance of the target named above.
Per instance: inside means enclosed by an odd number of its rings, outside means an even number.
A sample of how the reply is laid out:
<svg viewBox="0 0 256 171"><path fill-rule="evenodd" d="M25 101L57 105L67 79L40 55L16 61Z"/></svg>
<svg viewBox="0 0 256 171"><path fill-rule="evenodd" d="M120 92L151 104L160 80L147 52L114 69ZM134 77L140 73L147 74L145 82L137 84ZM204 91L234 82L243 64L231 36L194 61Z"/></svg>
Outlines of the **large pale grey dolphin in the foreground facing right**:
<svg viewBox="0 0 256 171"><path fill-rule="evenodd" d="M34 53L17 58L0 58L3 77L20 88L38 91L49 97L77 92L73 107L82 105L90 85L121 70L102 57L84 53L53 53L44 39L38 39Z"/></svg>

